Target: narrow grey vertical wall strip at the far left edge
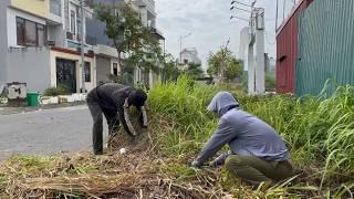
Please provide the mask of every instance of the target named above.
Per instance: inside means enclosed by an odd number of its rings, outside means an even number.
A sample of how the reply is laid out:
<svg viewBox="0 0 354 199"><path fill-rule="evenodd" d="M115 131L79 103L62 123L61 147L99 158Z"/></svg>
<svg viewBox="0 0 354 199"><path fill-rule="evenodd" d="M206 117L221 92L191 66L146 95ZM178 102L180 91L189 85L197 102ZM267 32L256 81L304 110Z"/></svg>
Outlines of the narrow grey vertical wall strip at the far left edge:
<svg viewBox="0 0 354 199"><path fill-rule="evenodd" d="M0 3L0 87L7 83L7 52L8 52L8 19L7 7L10 0L1 0Z"/></svg>

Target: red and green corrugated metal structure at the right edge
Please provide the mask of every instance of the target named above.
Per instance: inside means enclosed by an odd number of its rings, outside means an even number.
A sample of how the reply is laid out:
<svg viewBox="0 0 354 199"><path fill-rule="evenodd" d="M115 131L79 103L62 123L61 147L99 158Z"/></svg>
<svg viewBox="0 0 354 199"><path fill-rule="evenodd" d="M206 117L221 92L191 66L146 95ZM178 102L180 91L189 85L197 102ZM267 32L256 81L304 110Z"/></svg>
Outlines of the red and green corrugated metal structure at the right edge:
<svg viewBox="0 0 354 199"><path fill-rule="evenodd" d="M298 2L277 31L278 93L317 95L354 85L353 8L353 0Z"/></svg>

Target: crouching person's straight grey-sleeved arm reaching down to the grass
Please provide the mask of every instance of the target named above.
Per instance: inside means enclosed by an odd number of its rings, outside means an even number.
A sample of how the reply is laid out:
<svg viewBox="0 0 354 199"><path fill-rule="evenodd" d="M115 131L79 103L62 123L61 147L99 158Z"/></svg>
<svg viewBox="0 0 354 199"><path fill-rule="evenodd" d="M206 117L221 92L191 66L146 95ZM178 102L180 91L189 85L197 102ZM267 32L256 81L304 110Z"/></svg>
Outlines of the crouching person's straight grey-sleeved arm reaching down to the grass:
<svg viewBox="0 0 354 199"><path fill-rule="evenodd" d="M198 157L192 161L194 167L200 167L209 158L211 158L226 144L236 138L236 132L230 125L230 122L221 117L217 130L209 138L207 144L201 149Z"/></svg>

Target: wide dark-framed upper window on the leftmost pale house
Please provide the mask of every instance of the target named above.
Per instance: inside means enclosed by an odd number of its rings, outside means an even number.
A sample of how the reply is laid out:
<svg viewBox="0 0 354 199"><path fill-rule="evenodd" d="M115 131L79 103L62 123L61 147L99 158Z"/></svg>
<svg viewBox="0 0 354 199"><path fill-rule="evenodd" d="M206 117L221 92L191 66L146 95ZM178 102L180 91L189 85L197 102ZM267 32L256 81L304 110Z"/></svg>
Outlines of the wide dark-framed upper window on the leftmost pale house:
<svg viewBox="0 0 354 199"><path fill-rule="evenodd" d="M45 27L23 18L15 18L18 45L43 46L45 42Z"/></svg>

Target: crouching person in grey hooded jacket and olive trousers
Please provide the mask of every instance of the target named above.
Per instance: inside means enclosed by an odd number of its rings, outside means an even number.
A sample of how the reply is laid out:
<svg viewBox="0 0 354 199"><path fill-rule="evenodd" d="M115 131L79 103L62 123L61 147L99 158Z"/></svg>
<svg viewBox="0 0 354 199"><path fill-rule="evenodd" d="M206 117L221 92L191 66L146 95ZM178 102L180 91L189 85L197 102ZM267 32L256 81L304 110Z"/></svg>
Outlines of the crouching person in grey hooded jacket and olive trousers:
<svg viewBox="0 0 354 199"><path fill-rule="evenodd" d="M292 176L290 155L283 139L271 126L239 109L230 93L218 93L208 111L217 113L220 121L217 130L194 160L194 167L202 166L229 144L231 150L216 158L211 166L225 165L229 171L254 186Z"/></svg>

